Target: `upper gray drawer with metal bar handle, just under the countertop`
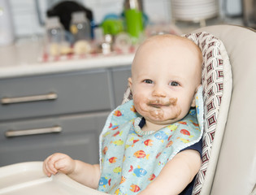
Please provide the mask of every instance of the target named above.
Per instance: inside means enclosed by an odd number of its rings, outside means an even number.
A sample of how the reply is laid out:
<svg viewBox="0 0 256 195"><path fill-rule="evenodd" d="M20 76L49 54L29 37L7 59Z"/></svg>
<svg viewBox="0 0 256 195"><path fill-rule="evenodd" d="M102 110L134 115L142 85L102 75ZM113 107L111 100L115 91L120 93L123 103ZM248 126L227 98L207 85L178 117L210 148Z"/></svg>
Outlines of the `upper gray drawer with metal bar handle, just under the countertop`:
<svg viewBox="0 0 256 195"><path fill-rule="evenodd" d="M104 70L0 80L0 121L111 110L108 80Z"/></svg>

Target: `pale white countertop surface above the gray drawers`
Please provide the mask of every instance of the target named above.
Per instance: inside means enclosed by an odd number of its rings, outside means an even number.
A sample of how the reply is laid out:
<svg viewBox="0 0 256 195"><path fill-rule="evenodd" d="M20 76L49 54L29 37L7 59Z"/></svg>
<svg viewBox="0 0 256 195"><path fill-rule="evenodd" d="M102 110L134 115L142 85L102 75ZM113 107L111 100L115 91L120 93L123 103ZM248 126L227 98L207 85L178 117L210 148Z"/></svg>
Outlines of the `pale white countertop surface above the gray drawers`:
<svg viewBox="0 0 256 195"><path fill-rule="evenodd" d="M41 39L22 39L14 45L0 46L0 79L127 66L132 64L134 56L134 53L112 53L42 60L43 50Z"/></svg>

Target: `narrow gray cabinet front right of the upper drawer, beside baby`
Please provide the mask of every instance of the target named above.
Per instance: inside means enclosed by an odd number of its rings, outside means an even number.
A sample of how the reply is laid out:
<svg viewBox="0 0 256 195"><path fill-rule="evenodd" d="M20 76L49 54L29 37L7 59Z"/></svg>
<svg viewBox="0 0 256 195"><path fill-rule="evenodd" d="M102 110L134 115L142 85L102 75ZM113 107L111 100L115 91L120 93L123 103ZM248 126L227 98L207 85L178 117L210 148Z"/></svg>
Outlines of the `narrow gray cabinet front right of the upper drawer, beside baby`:
<svg viewBox="0 0 256 195"><path fill-rule="evenodd" d="M124 98L124 92L128 86L128 78L131 76L131 66L115 68L112 71L115 95L115 106L119 106Z"/></svg>

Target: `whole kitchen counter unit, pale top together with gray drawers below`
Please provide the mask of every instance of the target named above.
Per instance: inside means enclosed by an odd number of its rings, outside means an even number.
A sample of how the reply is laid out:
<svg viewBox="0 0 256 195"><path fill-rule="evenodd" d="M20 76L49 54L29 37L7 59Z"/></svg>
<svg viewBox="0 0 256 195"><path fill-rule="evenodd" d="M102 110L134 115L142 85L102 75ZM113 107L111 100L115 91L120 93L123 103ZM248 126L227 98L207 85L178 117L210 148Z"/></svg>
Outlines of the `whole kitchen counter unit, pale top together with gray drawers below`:
<svg viewBox="0 0 256 195"><path fill-rule="evenodd" d="M43 48L41 41L0 48L0 167L57 152L98 163L98 137L122 102L134 54L50 59Z"/></svg>

